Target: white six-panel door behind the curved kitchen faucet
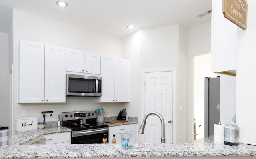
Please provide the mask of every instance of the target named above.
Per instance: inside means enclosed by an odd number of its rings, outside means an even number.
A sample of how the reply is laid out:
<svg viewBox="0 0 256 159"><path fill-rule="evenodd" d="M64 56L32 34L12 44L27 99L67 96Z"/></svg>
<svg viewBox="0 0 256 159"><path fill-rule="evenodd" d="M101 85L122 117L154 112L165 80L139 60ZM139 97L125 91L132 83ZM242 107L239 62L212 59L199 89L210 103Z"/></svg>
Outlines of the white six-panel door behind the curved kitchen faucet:
<svg viewBox="0 0 256 159"><path fill-rule="evenodd" d="M173 72L145 73L145 114L156 111L165 123L166 143L172 143ZM150 115L146 121L145 143L161 143L161 121Z"/></svg>

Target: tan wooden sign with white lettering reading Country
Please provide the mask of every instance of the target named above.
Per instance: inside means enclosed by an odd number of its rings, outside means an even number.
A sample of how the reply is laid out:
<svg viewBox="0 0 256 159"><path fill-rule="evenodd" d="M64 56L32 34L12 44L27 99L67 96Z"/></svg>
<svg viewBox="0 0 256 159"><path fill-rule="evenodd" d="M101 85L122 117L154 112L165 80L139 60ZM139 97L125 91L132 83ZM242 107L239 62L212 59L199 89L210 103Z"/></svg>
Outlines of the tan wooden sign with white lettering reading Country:
<svg viewBox="0 0 256 159"><path fill-rule="evenodd" d="M222 12L224 17L246 30L247 2L246 0L223 0Z"/></svg>

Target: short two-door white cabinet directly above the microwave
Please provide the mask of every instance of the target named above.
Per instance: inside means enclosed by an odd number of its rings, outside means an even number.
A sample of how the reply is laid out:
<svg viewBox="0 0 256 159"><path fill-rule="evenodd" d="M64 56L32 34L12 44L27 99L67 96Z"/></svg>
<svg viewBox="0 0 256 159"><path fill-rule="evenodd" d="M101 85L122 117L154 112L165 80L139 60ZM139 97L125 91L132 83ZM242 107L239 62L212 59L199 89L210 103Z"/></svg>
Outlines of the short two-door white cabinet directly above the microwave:
<svg viewBox="0 0 256 159"><path fill-rule="evenodd" d="M88 74L100 74L100 54L67 49L66 70Z"/></svg>

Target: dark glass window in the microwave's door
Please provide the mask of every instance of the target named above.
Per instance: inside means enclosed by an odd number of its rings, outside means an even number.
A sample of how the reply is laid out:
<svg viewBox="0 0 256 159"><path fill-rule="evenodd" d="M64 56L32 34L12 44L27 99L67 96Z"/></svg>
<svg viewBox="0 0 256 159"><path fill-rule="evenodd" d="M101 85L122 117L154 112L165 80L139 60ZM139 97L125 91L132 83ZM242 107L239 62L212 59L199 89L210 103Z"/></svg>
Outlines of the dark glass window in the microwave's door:
<svg viewBox="0 0 256 159"><path fill-rule="evenodd" d="M95 93L96 80L95 79L82 79L82 78L69 78L69 92L76 93Z"/></svg>

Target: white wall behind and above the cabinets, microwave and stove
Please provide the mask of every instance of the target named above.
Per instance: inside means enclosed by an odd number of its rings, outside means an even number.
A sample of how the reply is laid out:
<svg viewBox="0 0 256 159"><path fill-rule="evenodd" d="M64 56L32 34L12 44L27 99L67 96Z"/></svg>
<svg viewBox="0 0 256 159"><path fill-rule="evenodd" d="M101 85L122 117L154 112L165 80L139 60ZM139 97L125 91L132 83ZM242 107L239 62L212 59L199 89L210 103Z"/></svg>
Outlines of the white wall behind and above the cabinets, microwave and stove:
<svg viewBox="0 0 256 159"><path fill-rule="evenodd" d="M93 103L92 97L68 97L66 103L54 104L18 104L17 103L17 54L20 39L84 50L108 56L122 58L122 39L95 32L71 24L43 18L19 10L13 10L13 63L14 63L14 122L21 117L21 110L27 109L28 116L38 117L42 121L41 111L54 111L46 121L57 121L58 114L65 111L87 111L98 107L106 109L105 116L118 115L127 103ZM14 125L16 128L16 125Z"/></svg>

